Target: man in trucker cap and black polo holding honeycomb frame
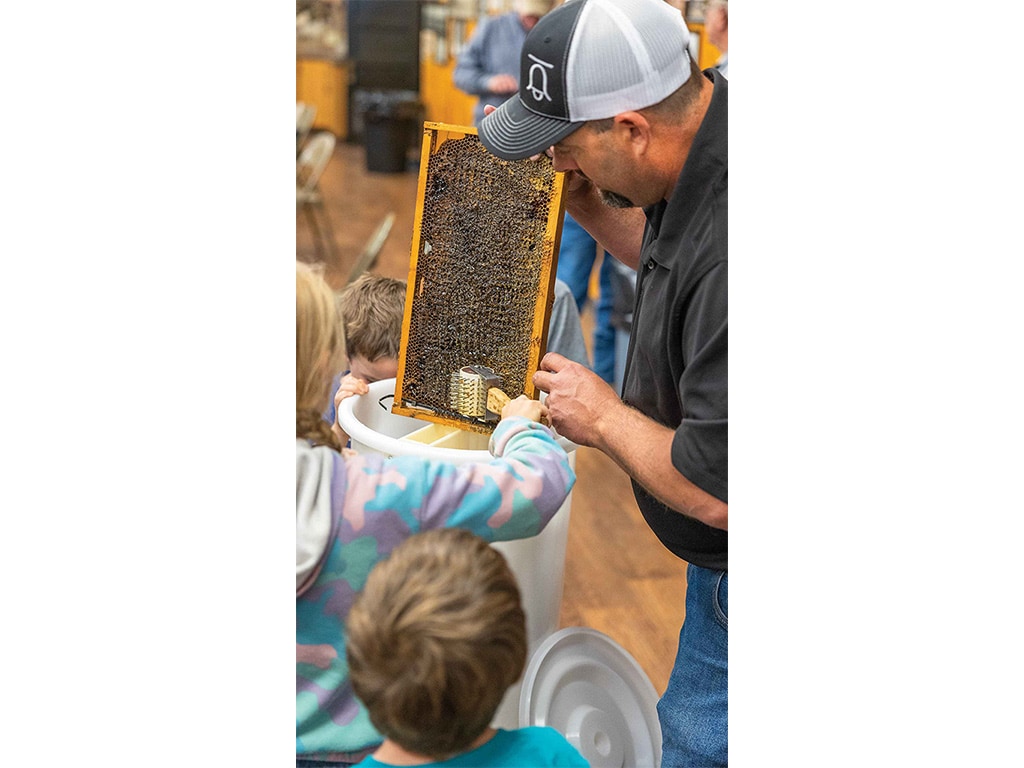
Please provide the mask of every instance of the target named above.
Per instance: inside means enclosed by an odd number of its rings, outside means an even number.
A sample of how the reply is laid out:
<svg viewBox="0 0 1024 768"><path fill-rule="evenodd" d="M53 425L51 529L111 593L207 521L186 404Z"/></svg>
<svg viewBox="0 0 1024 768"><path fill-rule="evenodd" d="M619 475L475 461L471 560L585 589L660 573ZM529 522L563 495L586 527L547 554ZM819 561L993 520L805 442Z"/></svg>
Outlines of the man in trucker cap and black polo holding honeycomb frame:
<svg viewBox="0 0 1024 768"><path fill-rule="evenodd" d="M500 158L548 153L566 212L637 269L622 399L555 353L534 383L687 562L657 708L666 767L728 764L728 83L688 43L664 0L566 0L526 36L518 94L479 126Z"/></svg>

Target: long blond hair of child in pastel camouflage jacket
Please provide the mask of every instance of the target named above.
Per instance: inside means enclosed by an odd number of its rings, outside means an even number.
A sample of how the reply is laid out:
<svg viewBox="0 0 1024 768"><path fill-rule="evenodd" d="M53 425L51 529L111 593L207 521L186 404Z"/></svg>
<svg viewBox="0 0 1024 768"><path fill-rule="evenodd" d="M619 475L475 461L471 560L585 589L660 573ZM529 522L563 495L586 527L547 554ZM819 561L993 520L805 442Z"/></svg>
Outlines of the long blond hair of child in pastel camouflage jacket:
<svg viewBox="0 0 1024 768"><path fill-rule="evenodd" d="M345 357L338 296L318 266L295 262L296 437L331 442L321 414L331 397L331 379Z"/></svg>

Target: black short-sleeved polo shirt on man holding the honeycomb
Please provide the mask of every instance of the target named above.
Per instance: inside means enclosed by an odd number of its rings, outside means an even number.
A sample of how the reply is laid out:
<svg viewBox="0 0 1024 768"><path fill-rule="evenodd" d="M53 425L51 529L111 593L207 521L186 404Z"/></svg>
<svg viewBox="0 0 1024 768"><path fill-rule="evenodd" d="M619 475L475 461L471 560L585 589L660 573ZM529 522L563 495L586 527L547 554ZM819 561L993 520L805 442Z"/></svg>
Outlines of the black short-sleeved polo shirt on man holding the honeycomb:
<svg viewBox="0 0 1024 768"><path fill-rule="evenodd" d="M647 209L623 400L676 430L672 463L728 502L728 81L715 85L671 200ZM728 569L729 535L633 482L651 530L677 556Z"/></svg>

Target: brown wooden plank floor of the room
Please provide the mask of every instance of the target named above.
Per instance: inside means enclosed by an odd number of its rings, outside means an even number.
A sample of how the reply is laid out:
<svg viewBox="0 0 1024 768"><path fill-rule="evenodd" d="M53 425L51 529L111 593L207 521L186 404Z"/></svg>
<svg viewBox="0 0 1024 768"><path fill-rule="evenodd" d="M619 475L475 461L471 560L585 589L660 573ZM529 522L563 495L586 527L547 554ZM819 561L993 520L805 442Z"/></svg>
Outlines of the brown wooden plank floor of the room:
<svg viewBox="0 0 1024 768"><path fill-rule="evenodd" d="M296 257L323 261L337 288L384 217L394 222L370 271L404 280L416 212L418 161L404 173L370 173L365 148L340 142L321 180L335 255L318 252L305 216L296 216ZM584 313L584 332L593 317ZM686 564L647 527L625 473L598 451L581 447L572 492L562 627L591 627L628 650L660 694L683 621Z"/></svg>

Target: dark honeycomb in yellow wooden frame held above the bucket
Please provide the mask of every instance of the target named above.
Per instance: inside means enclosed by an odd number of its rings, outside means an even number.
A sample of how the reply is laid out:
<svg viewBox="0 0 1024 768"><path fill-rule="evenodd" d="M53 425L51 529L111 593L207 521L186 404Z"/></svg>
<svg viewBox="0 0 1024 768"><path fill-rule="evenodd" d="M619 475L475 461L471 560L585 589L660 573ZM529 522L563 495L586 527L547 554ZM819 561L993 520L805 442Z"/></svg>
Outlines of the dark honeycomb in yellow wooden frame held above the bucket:
<svg viewBox="0 0 1024 768"><path fill-rule="evenodd" d="M561 237L562 176L546 157L505 161L473 128L424 124L406 316L392 412L472 431L455 410L465 367L534 397Z"/></svg>

